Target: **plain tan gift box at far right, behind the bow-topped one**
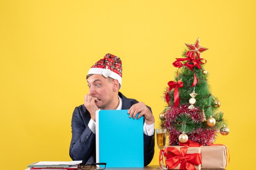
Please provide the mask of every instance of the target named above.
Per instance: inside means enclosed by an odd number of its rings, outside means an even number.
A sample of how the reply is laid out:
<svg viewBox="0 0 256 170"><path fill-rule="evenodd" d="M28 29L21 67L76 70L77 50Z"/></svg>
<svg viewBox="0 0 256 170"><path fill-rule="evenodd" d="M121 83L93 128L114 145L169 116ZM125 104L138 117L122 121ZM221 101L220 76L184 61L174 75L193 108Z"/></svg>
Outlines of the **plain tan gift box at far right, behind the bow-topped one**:
<svg viewBox="0 0 256 170"><path fill-rule="evenodd" d="M227 146L200 146L202 169L224 169L227 166Z"/></svg>

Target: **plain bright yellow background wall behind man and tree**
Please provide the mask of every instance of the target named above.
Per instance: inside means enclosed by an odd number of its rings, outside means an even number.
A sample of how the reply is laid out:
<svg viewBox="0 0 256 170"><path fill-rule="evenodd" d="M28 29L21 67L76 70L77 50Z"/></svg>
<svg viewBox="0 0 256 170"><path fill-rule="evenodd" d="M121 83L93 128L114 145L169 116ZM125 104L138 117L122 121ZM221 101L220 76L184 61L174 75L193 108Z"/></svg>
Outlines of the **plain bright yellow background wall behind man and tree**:
<svg viewBox="0 0 256 170"><path fill-rule="evenodd" d="M229 121L230 134L216 141L229 147L227 169L254 167L255 8L253 0L2 0L0 169L71 160L72 113L106 53L122 59L120 91L149 105L157 128L172 63L198 37Z"/></svg>

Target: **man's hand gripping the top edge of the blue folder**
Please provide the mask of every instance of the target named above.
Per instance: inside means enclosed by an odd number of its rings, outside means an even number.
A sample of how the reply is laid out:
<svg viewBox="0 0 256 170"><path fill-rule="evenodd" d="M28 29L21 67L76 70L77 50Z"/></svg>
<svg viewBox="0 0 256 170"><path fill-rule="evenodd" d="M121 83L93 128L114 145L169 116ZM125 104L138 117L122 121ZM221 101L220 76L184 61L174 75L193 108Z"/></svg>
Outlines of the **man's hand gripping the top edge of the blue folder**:
<svg viewBox="0 0 256 170"><path fill-rule="evenodd" d="M155 122L153 114L143 102L132 105L132 107L128 110L128 114L130 114L129 118L133 117L133 119L135 119L138 113L139 115L137 119L144 116L146 124L150 125Z"/></svg>

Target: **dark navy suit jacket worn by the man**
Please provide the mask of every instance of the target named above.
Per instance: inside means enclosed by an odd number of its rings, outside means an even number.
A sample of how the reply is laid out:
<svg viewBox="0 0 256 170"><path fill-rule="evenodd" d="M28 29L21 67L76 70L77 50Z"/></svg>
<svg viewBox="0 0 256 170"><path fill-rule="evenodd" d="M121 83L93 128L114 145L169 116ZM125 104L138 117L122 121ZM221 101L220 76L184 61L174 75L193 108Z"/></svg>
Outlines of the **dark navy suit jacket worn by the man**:
<svg viewBox="0 0 256 170"><path fill-rule="evenodd" d="M132 105L138 103L137 100L126 98L120 92L118 95L123 100L122 110L130 109ZM151 111L150 107L148 109ZM84 105L75 108L72 116L72 139L70 143L70 157L73 161L83 160L83 162L90 163L96 161L96 135L88 127L90 119L91 115ZM152 136L144 134L144 166L151 162L154 152L155 133Z"/></svg>

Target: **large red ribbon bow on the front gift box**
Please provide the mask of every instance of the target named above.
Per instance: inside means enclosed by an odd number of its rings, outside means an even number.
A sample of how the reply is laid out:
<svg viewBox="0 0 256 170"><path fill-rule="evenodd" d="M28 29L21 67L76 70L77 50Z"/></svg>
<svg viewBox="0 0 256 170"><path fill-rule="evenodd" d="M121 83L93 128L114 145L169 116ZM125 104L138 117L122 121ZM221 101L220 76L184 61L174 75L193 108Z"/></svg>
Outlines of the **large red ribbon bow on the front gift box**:
<svg viewBox="0 0 256 170"><path fill-rule="evenodd" d="M167 147L164 150L166 165L168 169L173 169L180 164L180 170L196 170L194 165L202 164L201 153L187 154L188 147L182 147L180 150L174 147Z"/></svg>

